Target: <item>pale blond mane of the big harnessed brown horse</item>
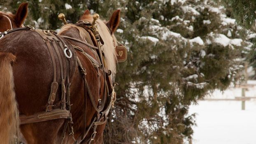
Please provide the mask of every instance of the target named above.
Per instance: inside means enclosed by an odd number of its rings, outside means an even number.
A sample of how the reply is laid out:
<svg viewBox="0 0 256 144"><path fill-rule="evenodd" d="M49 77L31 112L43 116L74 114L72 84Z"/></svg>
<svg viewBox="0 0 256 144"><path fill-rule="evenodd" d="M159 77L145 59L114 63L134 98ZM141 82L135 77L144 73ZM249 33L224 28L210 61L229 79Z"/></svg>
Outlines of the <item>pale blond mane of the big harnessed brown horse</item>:
<svg viewBox="0 0 256 144"><path fill-rule="evenodd" d="M82 20L86 20L90 23L92 23L93 18L92 16L86 16L86 17L82 17ZM106 60L106 67L108 70L111 70L112 72L112 79L114 79L114 76L116 74L116 51L114 48L114 44L117 45L117 41L116 41L116 37L114 35L110 35L109 30L106 26L106 24L98 19L96 21L97 23L97 27L98 27L98 31L99 34L102 38L102 40L104 41L104 54L105 54L105 60ZM59 31L58 35L61 35L62 33L64 33L66 30L70 29L70 28L77 28L77 30L79 31L79 35L80 37L86 41L85 36L86 36L86 30L84 30L84 28L78 27L78 26L74 26L72 24L67 24L65 26L63 26L61 28L61 30ZM114 39L114 40L113 40Z"/></svg>

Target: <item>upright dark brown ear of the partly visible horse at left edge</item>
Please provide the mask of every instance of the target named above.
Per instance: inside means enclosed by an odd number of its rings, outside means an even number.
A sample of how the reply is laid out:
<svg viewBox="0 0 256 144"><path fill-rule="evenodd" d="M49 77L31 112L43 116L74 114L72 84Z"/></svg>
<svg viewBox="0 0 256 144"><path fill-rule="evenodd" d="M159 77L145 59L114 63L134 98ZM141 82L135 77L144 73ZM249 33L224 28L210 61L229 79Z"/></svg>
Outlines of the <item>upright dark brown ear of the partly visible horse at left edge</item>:
<svg viewBox="0 0 256 144"><path fill-rule="evenodd" d="M16 24L18 26L21 26L22 23L25 21L27 15L28 15L28 3L26 2L26 3L22 3L19 6L19 8L14 16L14 20L15 20Z"/></svg>

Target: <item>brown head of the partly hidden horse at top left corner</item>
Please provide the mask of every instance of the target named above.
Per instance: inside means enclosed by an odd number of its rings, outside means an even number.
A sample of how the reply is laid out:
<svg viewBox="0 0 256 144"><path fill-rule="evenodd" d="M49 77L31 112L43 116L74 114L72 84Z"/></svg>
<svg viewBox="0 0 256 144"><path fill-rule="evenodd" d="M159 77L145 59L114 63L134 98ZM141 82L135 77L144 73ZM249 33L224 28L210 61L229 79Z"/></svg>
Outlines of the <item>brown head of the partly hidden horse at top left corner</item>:
<svg viewBox="0 0 256 144"><path fill-rule="evenodd" d="M0 11L0 32L23 27L27 14L28 3L21 3L15 15Z"/></svg>

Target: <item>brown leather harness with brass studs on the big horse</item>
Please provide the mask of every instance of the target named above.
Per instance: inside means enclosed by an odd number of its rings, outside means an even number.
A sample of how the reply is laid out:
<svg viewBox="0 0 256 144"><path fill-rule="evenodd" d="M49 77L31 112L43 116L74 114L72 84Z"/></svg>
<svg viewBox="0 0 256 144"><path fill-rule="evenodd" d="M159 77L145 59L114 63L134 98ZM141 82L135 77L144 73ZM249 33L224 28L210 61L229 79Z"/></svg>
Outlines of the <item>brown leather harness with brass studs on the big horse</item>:
<svg viewBox="0 0 256 144"><path fill-rule="evenodd" d="M94 41L96 43L96 46L93 46L91 44L88 44L85 41L82 41L80 39L76 39L73 37L68 37L64 35L57 35L57 33L53 30L40 30L40 29L35 29L32 26L27 25L26 27L23 28L14 28L12 30L5 31L3 33L0 33L0 37L2 38L3 36L19 31L19 30L35 30L43 39L45 44L47 45L47 48L49 50L50 56L51 56L51 61L53 64L53 81L51 83L51 92L49 95L49 99L47 102L47 107L46 111L38 112L33 115L26 116L24 114L20 114L19 118L21 121L21 125L23 124L28 124L28 123L37 123L37 122L42 122L42 121L49 121L49 120L54 120L54 119L59 119L59 118L67 118L67 122L65 124L65 128L63 130L63 140L65 138L65 131L68 128L70 130L70 134L72 134L72 138L74 139L74 144L79 144L81 142L88 142L89 144L94 140L96 136L96 128L98 125L102 125L106 122L106 116L109 113L109 109L114 107L114 102L116 99L116 93L114 92L114 88L116 86L116 83L112 83L109 75L111 74L110 70L107 70L107 67L105 66L105 58L104 58L104 53L102 51L102 44L104 44L102 38L100 37L98 33L97 27L92 27L91 23L88 23L87 21L79 21L75 23L74 25L80 26L84 28L87 32L90 33L91 37L94 37ZM93 28L93 29L92 29ZM0 39L1 39L0 38ZM103 98L102 100L99 100L99 105L97 106L95 103L95 100L93 98L93 95L91 94L91 89L88 85L88 82L86 80L86 69L83 67L81 64L79 58L77 57L77 63L79 65L79 69L81 73L83 74L83 79L84 79L84 93L88 93L89 98L91 100L91 103L93 105L93 108L96 110L96 115L93 118L93 121L89 128L86 130L86 125L84 128L84 132L79 135L78 139L74 138L74 131L72 127L72 115L70 113L70 60L69 58L72 57L72 53L70 49L67 48L67 45L65 42L62 40L62 38L67 39L71 44L72 41L79 42L81 44L84 44L91 49L94 49L98 53L99 60L95 60L92 56L90 56L88 53L86 53L83 49L81 49L79 46L75 46L72 44L73 48L79 52L82 53L85 58L88 58L88 60L91 62L91 64L97 69L97 70L102 70L103 71L103 76L104 76L104 90L103 90ZM93 41L93 39L92 39ZM118 57L118 62L124 61L127 58L127 51L125 46L116 46L116 49L122 49L122 53L125 53L124 55L120 55ZM69 53L67 53L67 51ZM57 55L56 57L54 56ZM118 51L117 51L118 53ZM75 54L75 53L74 53ZM120 57L120 58L119 58ZM121 59L121 60L120 60ZM58 62L56 62L58 61ZM99 62L100 61L100 62ZM61 77L61 105L60 107L56 108L54 105L54 100L56 97L56 92L58 90L58 82L57 82L57 68L56 65L59 64L60 67L60 76ZM64 72L66 71L66 72ZM66 79L66 80L65 80ZM109 97L107 97L109 95ZM110 98L107 100L107 98ZM86 100L86 98L85 98ZM108 105L105 108L105 103L108 101ZM104 109L105 108L105 109ZM84 116L84 123L86 124L86 114ZM88 132L93 128L93 134L91 137L86 138L88 135Z"/></svg>

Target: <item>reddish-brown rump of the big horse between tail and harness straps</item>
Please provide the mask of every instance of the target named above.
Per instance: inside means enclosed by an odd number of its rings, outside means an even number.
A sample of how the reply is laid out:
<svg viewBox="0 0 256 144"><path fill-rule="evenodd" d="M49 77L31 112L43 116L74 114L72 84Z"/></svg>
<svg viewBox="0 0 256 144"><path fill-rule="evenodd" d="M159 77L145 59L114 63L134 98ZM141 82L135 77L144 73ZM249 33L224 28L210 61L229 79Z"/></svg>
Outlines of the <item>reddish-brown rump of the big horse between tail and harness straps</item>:
<svg viewBox="0 0 256 144"><path fill-rule="evenodd" d="M45 111L53 81L53 66L42 37L34 30L10 33L0 40L0 51L16 56L13 73L20 113L28 115Z"/></svg>

